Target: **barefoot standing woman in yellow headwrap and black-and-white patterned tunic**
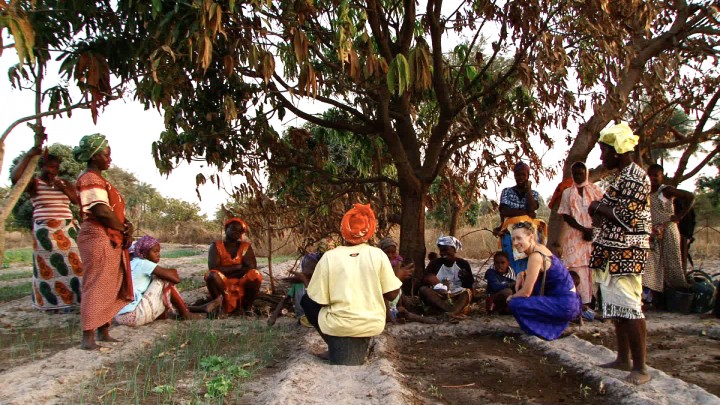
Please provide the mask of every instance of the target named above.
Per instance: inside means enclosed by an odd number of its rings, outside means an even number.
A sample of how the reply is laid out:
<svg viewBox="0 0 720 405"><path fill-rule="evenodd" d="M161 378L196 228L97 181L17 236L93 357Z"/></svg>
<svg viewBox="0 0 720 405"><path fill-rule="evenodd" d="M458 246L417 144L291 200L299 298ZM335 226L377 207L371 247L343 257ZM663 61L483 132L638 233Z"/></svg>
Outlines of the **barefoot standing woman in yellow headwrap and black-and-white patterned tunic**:
<svg viewBox="0 0 720 405"><path fill-rule="evenodd" d="M617 174L588 213L597 224L590 268L600 284L602 316L613 319L617 339L617 358L601 367L630 371L628 382L644 384L650 381L642 312L642 274L650 249L650 180L633 162L637 143L638 136L624 122L600 131L600 160Z"/></svg>

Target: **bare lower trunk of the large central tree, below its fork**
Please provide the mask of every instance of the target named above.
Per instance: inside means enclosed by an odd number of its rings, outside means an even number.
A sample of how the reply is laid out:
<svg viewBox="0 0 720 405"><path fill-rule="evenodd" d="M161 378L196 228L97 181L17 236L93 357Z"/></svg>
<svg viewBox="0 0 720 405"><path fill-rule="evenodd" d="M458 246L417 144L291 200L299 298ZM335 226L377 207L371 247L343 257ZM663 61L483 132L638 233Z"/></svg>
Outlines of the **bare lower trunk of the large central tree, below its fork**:
<svg viewBox="0 0 720 405"><path fill-rule="evenodd" d="M415 276L425 270L425 195L428 186L400 181L400 253L415 262Z"/></svg>

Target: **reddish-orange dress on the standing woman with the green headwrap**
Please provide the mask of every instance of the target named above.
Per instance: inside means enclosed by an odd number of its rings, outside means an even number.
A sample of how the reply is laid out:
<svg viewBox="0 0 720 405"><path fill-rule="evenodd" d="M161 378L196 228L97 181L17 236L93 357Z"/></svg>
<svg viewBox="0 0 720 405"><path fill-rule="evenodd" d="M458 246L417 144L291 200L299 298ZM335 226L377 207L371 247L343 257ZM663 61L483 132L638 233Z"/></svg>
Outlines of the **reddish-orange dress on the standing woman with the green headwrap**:
<svg viewBox="0 0 720 405"><path fill-rule="evenodd" d="M81 174L75 187L83 219L78 235L84 273L80 321L82 329L87 331L110 322L134 299L134 293L130 256L122 245L122 233L106 228L90 211L93 206L104 204L124 222L125 201L117 189L96 172Z"/></svg>

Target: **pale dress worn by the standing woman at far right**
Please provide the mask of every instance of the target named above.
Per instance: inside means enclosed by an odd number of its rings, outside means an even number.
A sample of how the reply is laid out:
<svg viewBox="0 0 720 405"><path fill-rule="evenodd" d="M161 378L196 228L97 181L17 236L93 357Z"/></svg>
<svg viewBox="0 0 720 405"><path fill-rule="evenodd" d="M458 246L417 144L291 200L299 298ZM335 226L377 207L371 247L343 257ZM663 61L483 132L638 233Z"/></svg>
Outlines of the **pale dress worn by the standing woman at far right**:
<svg viewBox="0 0 720 405"><path fill-rule="evenodd" d="M674 198L662 194L665 187L660 186L657 192L650 194L650 212L656 232L643 275L643 286L657 292L663 292L665 287L688 288L682 270L680 231L677 223L670 221L674 214Z"/></svg>

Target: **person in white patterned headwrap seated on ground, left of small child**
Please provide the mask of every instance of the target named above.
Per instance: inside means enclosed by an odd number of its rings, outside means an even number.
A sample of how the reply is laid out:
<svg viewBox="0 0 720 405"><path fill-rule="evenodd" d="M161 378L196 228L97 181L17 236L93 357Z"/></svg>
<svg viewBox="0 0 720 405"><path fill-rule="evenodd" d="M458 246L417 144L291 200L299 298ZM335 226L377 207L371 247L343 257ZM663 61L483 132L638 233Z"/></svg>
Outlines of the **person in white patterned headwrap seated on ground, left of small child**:
<svg viewBox="0 0 720 405"><path fill-rule="evenodd" d="M420 298L431 310L442 311L451 318L466 318L474 279L470 263L457 257L462 243L454 236L441 236L437 247L440 257L425 268Z"/></svg>

